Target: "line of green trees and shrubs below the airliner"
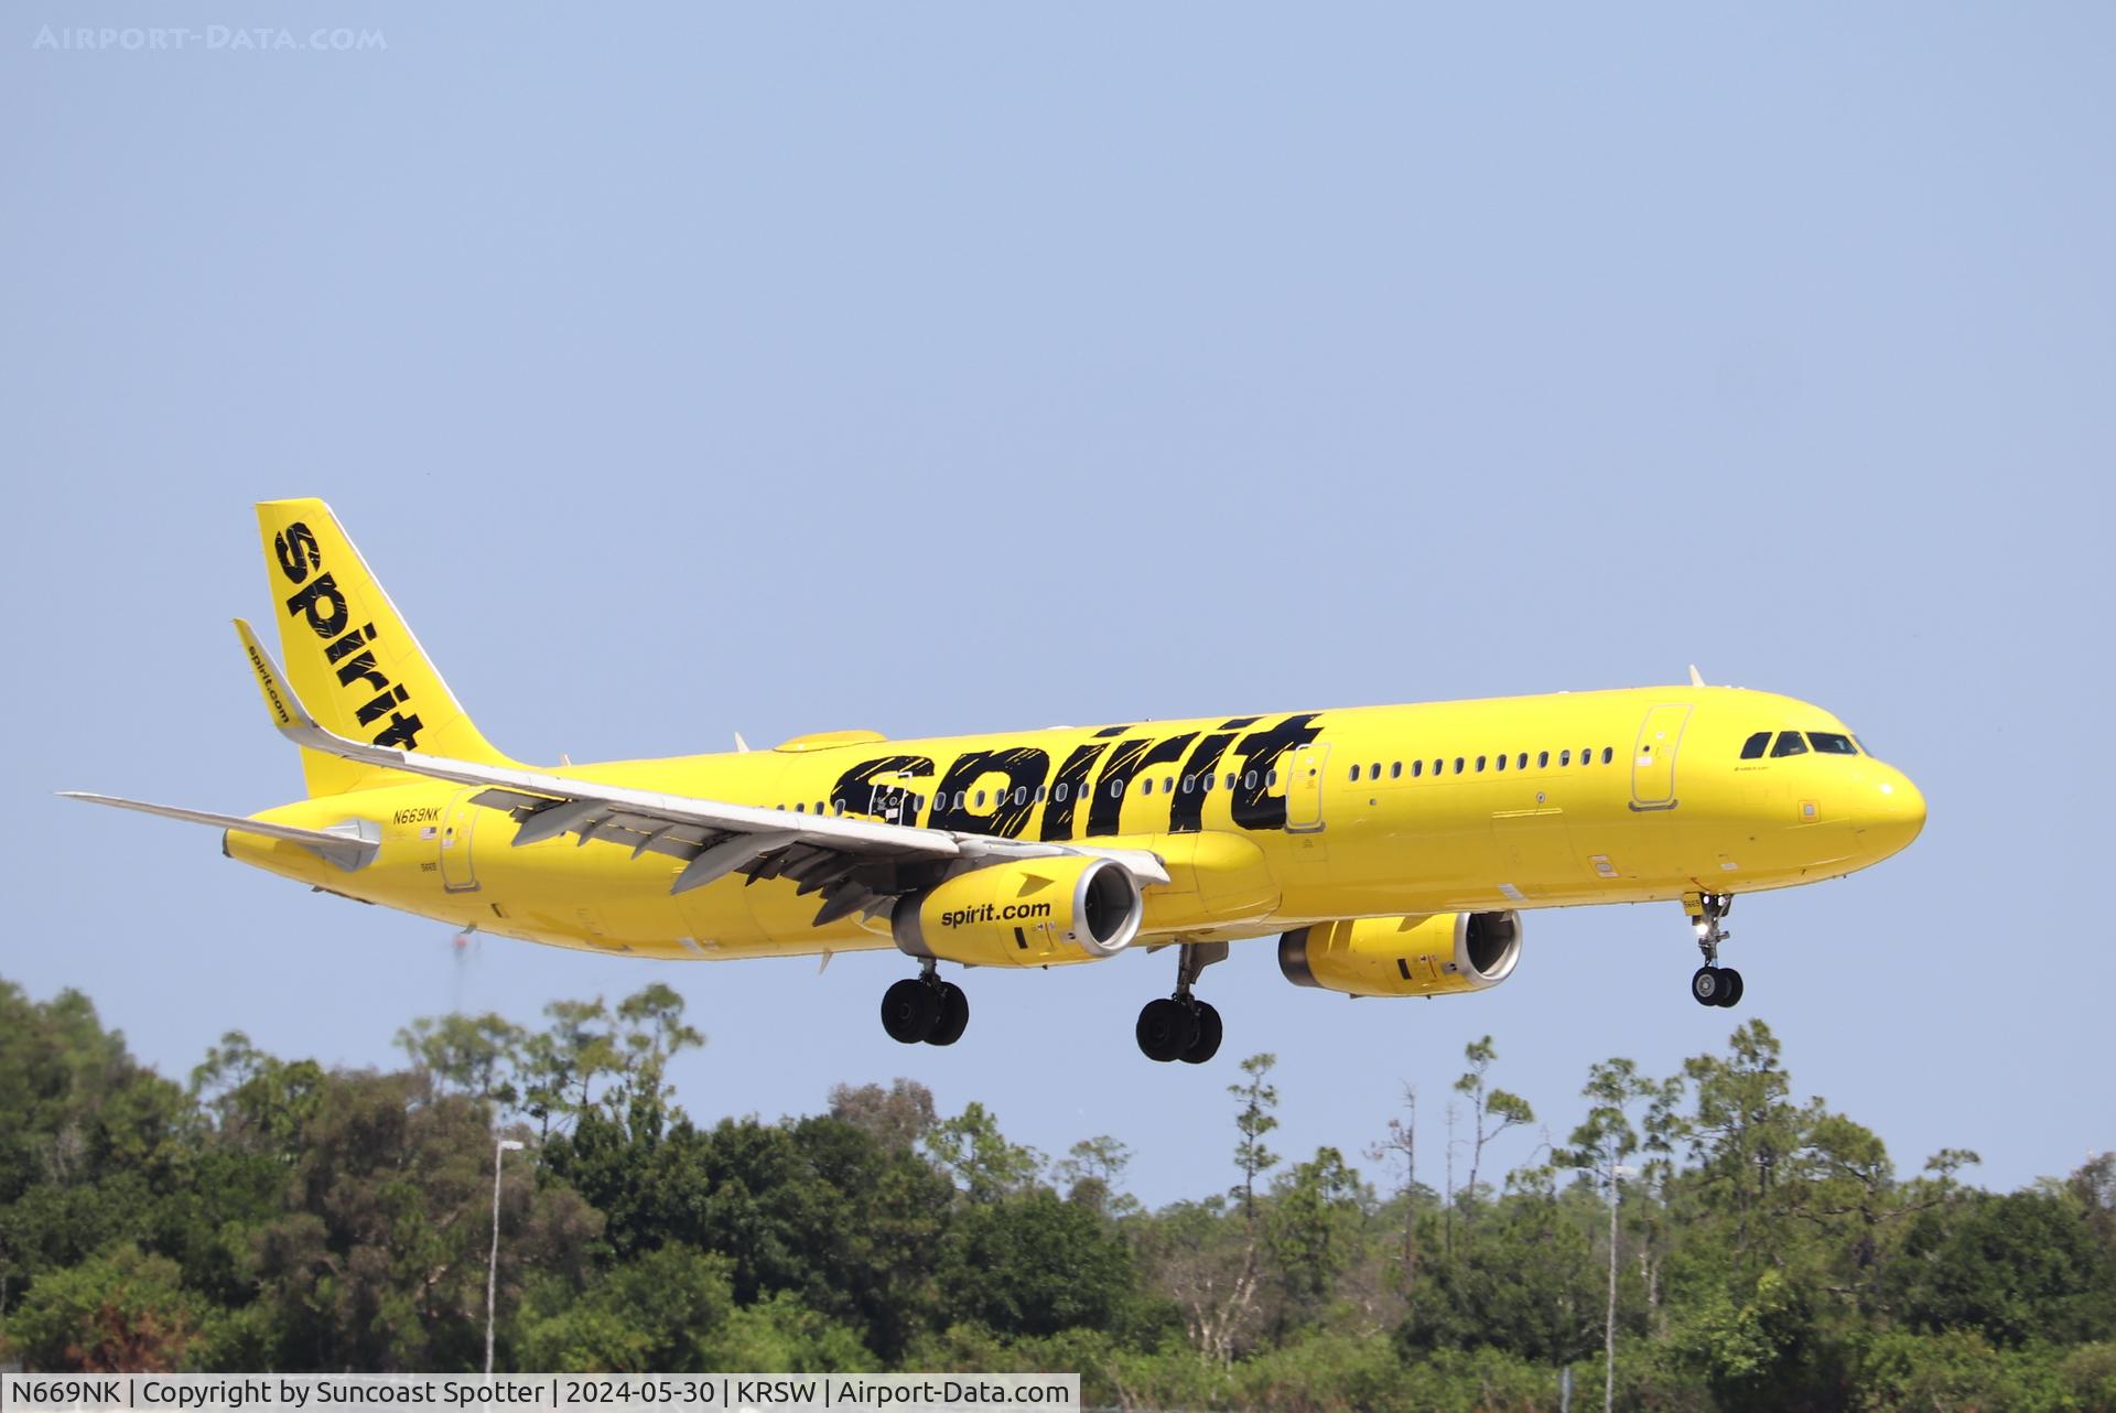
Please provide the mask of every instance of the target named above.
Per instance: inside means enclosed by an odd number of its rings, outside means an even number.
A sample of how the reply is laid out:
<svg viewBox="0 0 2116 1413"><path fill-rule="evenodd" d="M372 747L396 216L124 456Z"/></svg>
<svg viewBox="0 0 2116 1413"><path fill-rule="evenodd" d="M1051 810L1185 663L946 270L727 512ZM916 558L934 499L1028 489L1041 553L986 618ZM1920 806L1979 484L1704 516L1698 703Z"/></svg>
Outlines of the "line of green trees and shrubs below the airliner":
<svg viewBox="0 0 2116 1413"><path fill-rule="evenodd" d="M2116 1155L2012 1193L1964 1151L1898 1172L1763 1022L1676 1075L1595 1064L1562 1140L1483 1039L1308 1157L1270 1146L1253 1056L1225 1185L1157 1210L1121 1140L1050 1157L904 1079L700 1125L660 984L398 1043L343 1070L231 1032L178 1083L78 992L0 981L0 1356L478 1369L512 1138L504 1369L1058 1369L1096 1405L1289 1411L1555 1409L1570 1369L1579 1409L2116 1413Z"/></svg>

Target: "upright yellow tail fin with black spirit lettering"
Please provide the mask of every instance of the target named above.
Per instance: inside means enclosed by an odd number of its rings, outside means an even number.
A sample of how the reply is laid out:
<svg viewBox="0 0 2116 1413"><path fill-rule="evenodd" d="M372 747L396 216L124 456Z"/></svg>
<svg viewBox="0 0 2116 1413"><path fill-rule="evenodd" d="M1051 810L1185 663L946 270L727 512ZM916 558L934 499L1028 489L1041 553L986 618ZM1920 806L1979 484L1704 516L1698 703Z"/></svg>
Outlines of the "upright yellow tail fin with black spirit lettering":
<svg viewBox="0 0 2116 1413"><path fill-rule="evenodd" d="M512 764L470 723L330 506L260 501L258 531L288 683L322 726L404 751ZM311 797L394 774L320 751L303 751L300 768Z"/></svg>

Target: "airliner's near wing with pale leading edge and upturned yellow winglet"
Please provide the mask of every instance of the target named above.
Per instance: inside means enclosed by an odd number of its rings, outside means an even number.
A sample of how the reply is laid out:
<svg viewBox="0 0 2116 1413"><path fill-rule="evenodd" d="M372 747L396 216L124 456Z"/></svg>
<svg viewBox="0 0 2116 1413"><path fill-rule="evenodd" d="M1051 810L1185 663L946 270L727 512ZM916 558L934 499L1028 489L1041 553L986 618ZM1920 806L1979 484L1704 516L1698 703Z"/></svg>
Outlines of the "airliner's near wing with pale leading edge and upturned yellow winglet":
<svg viewBox="0 0 2116 1413"><path fill-rule="evenodd" d="M296 745L434 781L482 785L472 800L516 819L516 846L571 833L580 844L599 840L631 846L635 859L643 852L681 859L683 869L669 886L671 893L698 888L728 874L747 874L751 882L789 878L798 893L823 897L815 916L821 926L855 912L887 912L904 893L931 886L950 871L1003 859L1090 855L1113 859L1141 884L1168 882L1160 857L1136 848L1077 848L796 814L349 740L317 726L250 624L235 620L235 630L243 639L273 726Z"/></svg>

